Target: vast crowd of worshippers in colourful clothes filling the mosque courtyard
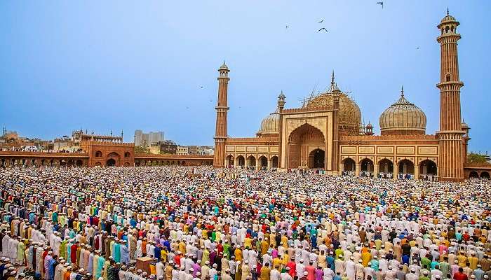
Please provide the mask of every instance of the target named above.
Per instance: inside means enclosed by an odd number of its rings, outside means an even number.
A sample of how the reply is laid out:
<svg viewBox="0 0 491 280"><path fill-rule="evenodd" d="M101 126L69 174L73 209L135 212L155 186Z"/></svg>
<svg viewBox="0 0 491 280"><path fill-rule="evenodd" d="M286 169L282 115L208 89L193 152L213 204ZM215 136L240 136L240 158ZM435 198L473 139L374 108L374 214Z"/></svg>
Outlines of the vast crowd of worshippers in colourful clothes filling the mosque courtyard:
<svg viewBox="0 0 491 280"><path fill-rule="evenodd" d="M0 171L0 280L491 278L491 181Z"/></svg>

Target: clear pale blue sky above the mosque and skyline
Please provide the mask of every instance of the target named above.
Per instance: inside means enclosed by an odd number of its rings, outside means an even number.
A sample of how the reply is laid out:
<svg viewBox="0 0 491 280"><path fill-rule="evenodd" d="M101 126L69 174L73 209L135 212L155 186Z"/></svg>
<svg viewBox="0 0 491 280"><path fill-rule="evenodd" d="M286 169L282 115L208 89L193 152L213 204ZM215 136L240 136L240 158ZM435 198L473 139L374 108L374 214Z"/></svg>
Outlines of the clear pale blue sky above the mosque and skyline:
<svg viewBox="0 0 491 280"><path fill-rule="evenodd" d="M286 108L324 90L332 69L377 133L380 113L404 85L433 134L436 25L448 6L461 23L470 149L491 152L491 1L384 0L383 9L377 1L0 1L0 125L43 139L82 127L123 130L125 141L142 129L213 144L225 59L231 137L253 137L281 90Z"/></svg>

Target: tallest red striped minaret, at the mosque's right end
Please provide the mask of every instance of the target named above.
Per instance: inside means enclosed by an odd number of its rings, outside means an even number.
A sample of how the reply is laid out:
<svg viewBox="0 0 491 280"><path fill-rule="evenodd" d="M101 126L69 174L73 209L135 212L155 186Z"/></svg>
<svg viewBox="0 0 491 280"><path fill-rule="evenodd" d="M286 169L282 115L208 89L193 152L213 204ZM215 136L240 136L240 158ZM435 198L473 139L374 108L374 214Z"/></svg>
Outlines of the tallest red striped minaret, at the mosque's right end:
<svg viewBox="0 0 491 280"><path fill-rule="evenodd" d="M462 158L462 118L460 116L459 61L457 57L457 33L459 22L448 14L438 25L440 36L440 131L438 148L438 178L440 181L463 181L464 160Z"/></svg>

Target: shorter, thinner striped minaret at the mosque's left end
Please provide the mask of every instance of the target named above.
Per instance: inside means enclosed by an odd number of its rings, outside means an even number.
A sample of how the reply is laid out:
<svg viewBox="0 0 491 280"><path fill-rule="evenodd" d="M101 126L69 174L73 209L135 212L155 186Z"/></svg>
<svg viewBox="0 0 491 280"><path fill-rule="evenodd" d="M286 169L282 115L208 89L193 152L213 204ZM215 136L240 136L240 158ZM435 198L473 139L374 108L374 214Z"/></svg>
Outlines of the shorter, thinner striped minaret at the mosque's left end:
<svg viewBox="0 0 491 280"><path fill-rule="evenodd" d="M217 106L217 123L215 127L215 153L213 157L213 166L217 168L225 167L225 141L227 140L227 91L229 86L229 67L223 62L218 69L218 100Z"/></svg>

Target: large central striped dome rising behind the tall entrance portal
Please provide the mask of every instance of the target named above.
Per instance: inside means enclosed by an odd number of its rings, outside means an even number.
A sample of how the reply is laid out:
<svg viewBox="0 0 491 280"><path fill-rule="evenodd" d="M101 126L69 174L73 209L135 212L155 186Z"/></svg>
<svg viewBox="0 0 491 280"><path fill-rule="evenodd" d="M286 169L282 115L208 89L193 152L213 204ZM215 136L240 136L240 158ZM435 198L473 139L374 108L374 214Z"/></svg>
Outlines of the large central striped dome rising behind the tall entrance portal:
<svg viewBox="0 0 491 280"><path fill-rule="evenodd" d="M304 107L316 109L321 107L333 108L334 97L339 97L338 124L339 132L342 134L358 135L360 134L361 111L360 107L347 94L341 92L334 83L334 72L332 73L331 86L326 92L319 94L309 100Z"/></svg>

